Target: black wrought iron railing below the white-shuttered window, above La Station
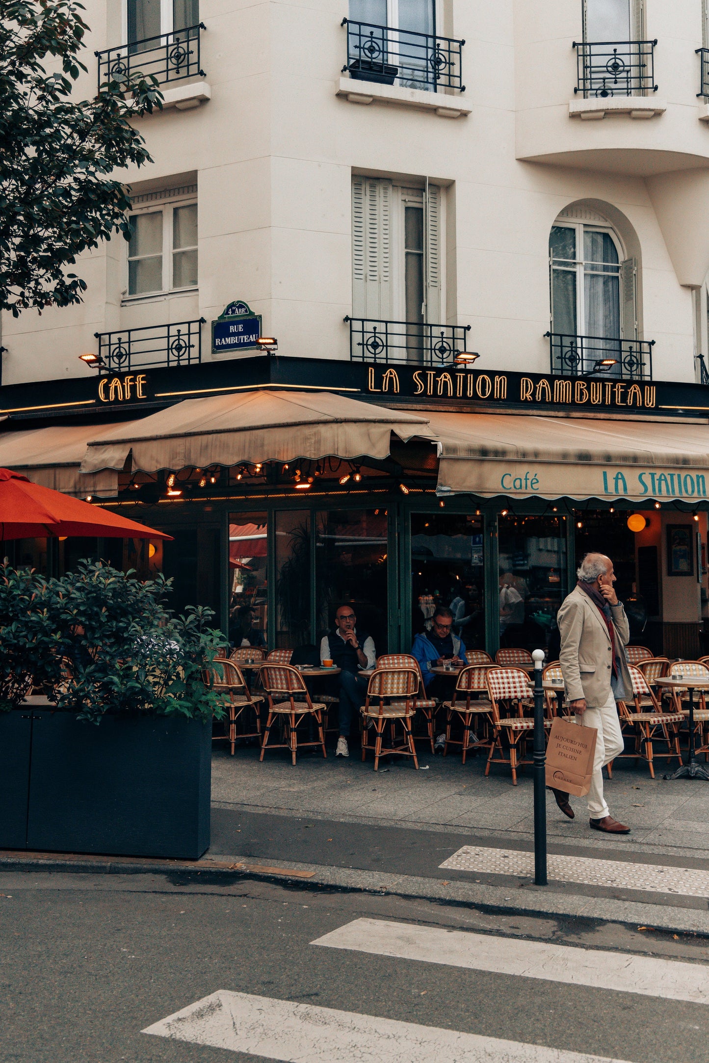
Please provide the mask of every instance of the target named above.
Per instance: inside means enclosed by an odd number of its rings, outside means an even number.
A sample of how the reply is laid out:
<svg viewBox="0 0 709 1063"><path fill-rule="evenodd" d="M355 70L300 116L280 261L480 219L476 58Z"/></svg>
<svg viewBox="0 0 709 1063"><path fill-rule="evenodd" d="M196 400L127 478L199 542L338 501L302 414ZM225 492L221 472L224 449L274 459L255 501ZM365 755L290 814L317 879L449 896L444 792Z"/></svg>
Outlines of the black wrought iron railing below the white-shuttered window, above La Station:
<svg viewBox="0 0 709 1063"><path fill-rule="evenodd" d="M450 366L466 350L470 325L424 325L410 321L344 319L350 323L352 361Z"/></svg>

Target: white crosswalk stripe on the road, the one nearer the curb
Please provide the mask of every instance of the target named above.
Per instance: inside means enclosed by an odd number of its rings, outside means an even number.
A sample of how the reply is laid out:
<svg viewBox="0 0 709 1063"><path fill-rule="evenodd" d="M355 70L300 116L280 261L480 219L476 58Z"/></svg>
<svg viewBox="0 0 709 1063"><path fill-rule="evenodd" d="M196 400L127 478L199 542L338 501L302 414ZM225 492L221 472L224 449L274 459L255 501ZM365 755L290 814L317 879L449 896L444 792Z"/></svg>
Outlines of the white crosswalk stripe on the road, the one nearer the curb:
<svg viewBox="0 0 709 1063"><path fill-rule="evenodd" d="M311 942L377 956L709 1003L709 967L628 952L359 918Z"/></svg>

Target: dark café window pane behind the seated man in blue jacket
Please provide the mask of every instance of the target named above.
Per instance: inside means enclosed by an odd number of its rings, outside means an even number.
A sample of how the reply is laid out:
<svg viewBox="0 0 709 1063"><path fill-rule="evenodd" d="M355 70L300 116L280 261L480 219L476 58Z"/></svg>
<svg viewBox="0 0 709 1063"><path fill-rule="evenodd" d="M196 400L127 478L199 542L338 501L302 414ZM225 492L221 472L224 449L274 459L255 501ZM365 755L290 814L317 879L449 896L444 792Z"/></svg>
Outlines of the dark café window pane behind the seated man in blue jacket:
<svg viewBox="0 0 709 1063"><path fill-rule="evenodd" d="M411 514L411 635L431 630L440 605L467 649L485 648L483 561L482 518Z"/></svg>

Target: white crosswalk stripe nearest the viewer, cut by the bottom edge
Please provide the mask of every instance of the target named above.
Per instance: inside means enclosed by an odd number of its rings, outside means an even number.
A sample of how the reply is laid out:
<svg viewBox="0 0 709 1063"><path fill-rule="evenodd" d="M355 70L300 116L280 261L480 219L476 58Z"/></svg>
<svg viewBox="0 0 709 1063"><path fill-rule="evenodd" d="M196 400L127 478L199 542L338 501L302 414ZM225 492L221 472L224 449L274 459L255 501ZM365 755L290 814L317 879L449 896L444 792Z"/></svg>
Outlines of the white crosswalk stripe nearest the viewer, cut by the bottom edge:
<svg viewBox="0 0 709 1063"><path fill-rule="evenodd" d="M623 1063L227 990L142 1032L288 1063Z"/></svg>

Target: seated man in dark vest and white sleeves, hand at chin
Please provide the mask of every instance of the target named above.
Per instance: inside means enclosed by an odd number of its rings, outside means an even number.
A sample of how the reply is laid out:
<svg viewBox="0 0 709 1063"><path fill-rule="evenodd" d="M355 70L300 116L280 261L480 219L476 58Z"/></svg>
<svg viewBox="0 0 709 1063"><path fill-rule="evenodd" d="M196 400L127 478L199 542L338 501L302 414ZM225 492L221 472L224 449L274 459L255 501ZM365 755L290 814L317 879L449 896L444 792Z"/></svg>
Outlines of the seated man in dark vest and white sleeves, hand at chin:
<svg viewBox="0 0 709 1063"><path fill-rule="evenodd" d="M374 640L371 635L357 627L352 606L338 606L335 627L323 636L320 643L320 660L323 663L332 661L340 669L340 735L335 756L349 757L348 738L352 721L358 716L367 696L368 679L358 673L362 669L373 669L376 664Z"/></svg>

